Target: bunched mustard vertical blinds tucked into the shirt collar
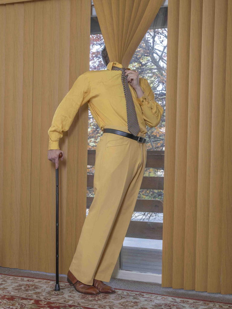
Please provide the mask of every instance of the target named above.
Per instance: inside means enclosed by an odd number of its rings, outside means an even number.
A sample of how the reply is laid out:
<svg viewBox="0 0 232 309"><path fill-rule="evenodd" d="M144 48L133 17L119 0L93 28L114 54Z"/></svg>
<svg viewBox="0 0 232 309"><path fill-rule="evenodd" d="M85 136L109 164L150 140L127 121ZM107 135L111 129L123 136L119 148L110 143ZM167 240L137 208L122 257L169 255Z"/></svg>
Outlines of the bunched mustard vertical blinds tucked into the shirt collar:
<svg viewBox="0 0 232 309"><path fill-rule="evenodd" d="M94 0L110 61L128 67L162 0Z"/></svg>

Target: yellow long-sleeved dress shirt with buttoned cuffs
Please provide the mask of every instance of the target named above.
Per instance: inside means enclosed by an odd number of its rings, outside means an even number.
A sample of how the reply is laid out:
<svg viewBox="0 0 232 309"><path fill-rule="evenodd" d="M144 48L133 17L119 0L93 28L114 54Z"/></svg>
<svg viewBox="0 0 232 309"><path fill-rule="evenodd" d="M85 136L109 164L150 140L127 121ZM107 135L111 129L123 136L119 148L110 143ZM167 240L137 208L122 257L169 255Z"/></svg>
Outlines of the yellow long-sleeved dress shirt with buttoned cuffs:
<svg viewBox="0 0 232 309"><path fill-rule="evenodd" d="M107 70L94 70L81 74L62 99L54 114L52 125L48 130L50 149L60 149L59 139L67 131L78 109L88 102L89 109L98 126L103 131L105 125L127 127L126 99L122 86L122 71L111 70L112 66L122 68L118 62L110 62ZM130 70L130 68L127 68ZM163 108L154 100L153 91L145 78L139 78L140 87L144 91L137 98L135 89L129 84L135 104L140 132L147 133L146 125L156 127L163 114Z"/></svg>

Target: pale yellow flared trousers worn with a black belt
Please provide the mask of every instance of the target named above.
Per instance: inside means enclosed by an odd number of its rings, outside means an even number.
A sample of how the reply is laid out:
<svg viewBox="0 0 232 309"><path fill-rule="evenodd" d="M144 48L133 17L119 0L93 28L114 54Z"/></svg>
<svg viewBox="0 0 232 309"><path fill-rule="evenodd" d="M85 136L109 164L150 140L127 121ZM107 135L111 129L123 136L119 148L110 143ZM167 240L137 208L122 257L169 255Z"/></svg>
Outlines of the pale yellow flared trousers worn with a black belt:
<svg viewBox="0 0 232 309"><path fill-rule="evenodd" d="M127 127L105 128L129 132ZM130 132L129 132L130 133ZM145 134L138 133L145 137ZM147 159L147 145L103 133L96 147L94 199L70 271L77 280L109 282L133 214Z"/></svg>

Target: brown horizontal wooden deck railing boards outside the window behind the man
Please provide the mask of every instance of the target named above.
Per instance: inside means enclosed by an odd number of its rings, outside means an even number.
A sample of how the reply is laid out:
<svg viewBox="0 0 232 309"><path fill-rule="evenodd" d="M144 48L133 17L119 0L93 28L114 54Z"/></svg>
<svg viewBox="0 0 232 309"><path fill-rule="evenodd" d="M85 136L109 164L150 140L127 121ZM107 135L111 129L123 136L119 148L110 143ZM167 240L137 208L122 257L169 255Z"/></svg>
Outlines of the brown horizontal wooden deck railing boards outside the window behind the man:
<svg viewBox="0 0 232 309"><path fill-rule="evenodd" d="M95 150L88 150L88 165L95 165ZM147 150L146 167L164 169L164 151ZM94 175L87 176L87 187L93 188ZM144 176L140 189L164 189L164 177ZM87 197L87 209L92 203L93 197ZM135 211L163 213L163 200L137 199ZM163 223L131 221L126 237L162 239Z"/></svg>

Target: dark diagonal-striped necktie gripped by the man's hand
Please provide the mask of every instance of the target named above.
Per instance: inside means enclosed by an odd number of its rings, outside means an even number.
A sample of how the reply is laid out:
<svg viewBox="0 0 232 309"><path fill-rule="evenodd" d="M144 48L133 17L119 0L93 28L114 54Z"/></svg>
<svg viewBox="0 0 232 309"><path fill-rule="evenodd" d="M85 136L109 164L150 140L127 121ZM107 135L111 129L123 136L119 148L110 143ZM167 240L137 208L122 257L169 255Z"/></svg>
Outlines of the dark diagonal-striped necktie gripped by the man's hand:
<svg viewBox="0 0 232 309"><path fill-rule="evenodd" d="M112 70L121 70L122 71L122 85L124 90L124 95L126 98L126 107L127 107L127 127L128 130L135 136L140 132L140 126L138 118L135 112L135 104L131 95L131 91L127 82L127 76L125 75L126 68L118 68L117 66L112 66Z"/></svg>

